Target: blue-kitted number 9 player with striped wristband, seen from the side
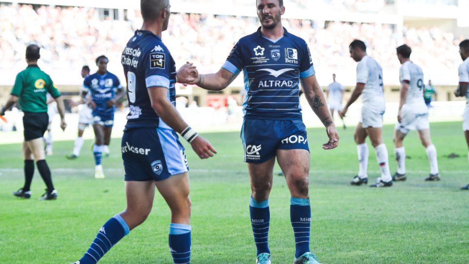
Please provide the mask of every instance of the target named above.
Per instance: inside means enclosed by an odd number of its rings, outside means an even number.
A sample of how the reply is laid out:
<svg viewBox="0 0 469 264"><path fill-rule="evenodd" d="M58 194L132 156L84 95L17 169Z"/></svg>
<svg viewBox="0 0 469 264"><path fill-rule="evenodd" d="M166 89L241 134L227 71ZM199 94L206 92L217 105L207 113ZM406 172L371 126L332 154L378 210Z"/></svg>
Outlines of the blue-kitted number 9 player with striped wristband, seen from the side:
<svg viewBox="0 0 469 264"><path fill-rule="evenodd" d="M170 252L174 264L191 257L189 175L180 133L200 158L213 156L212 145L181 118L175 108L177 81L191 83L191 64L176 66L161 32L168 28L169 0L141 0L143 25L122 52L127 77L129 114L122 137L127 208L109 219L76 264L95 264L130 230L143 223L155 196L155 186L171 209ZM136 262L130 262L136 263ZM155 260L154 263L161 263Z"/></svg>

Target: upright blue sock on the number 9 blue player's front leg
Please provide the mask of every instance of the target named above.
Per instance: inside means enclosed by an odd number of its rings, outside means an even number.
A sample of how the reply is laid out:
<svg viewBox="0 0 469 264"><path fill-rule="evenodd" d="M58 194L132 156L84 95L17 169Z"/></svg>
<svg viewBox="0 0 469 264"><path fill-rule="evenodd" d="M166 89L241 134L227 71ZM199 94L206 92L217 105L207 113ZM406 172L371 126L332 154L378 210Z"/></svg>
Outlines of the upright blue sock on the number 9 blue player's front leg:
<svg viewBox="0 0 469 264"><path fill-rule="evenodd" d="M174 264L191 263L191 225L170 223L169 242Z"/></svg>

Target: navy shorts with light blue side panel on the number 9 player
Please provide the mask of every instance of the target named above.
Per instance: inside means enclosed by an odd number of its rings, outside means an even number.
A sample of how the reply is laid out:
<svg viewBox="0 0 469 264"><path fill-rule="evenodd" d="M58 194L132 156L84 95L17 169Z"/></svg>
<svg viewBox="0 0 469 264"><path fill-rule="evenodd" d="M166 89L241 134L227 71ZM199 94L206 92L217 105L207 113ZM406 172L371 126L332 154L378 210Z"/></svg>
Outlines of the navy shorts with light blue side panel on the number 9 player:
<svg viewBox="0 0 469 264"><path fill-rule="evenodd" d="M121 151L126 181L159 181L189 171L184 147L171 129L128 129Z"/></svg>

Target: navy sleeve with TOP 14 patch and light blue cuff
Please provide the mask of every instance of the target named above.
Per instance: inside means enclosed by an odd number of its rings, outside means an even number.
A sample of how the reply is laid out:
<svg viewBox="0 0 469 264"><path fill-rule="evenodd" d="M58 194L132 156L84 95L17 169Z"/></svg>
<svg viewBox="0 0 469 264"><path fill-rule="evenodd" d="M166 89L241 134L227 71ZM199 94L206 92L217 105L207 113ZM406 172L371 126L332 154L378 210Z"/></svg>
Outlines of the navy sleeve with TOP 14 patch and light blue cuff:
<svg viewBox="0 0 469 264"><path fill-rule="evenodd" d="M166 46L156 43L144 58L145 84L150 87L170 88L171 55Z"/></svg>

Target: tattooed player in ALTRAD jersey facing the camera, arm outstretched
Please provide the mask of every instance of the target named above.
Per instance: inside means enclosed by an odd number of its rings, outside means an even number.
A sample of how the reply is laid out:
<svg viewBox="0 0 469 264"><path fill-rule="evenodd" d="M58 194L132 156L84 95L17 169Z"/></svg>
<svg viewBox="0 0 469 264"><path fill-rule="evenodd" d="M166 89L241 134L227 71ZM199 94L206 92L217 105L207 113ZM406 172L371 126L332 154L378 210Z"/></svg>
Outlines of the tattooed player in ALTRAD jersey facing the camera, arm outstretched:
<svg viewBox="0 0 469 264"><path fill-rule="evenodd" d="M295 235L295 264L318 264L309 249L311 208L308 175L310 154L299 105L300 82L311 109L329 137L324 149L337 147L339 135L316 79L306 42L287 32L282 0L257 0L259 29L241 38L226 63L213 74L199 75L201 88L226 88L243 71L244 124L241 139L251 177L250 213L257 248L256 263L270 264L269 194L275 159L291 193L290 216Z"/></svg>

